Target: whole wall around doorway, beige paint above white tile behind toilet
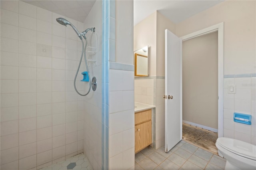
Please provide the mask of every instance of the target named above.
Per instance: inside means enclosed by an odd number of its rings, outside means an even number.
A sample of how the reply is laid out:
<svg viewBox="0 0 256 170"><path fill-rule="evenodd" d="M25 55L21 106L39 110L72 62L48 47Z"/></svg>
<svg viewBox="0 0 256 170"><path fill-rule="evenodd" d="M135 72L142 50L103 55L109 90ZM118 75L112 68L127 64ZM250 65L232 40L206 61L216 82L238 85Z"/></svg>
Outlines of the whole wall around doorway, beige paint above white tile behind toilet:
<svg viewBox="0 0 256 170"><path fill-rule="evenodd" d="M176 24L176 35L224 22L224 136L256 144L256 2L225 1ZM236 94L228 94L236 85ZM252 125L236 123L233 113L252 115Z"/></svg>

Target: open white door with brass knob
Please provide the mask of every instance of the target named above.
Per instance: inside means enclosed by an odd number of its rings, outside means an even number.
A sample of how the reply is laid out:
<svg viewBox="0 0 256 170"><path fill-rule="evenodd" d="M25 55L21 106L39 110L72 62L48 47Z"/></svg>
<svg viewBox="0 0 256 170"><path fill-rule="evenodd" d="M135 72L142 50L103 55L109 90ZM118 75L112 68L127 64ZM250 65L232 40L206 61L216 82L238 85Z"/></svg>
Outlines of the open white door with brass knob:
<svg viewBox="0 0 256 170"><path fill-rule="evenodd" d="M182 40L165 30L165 152L182 140Z"/></svg>

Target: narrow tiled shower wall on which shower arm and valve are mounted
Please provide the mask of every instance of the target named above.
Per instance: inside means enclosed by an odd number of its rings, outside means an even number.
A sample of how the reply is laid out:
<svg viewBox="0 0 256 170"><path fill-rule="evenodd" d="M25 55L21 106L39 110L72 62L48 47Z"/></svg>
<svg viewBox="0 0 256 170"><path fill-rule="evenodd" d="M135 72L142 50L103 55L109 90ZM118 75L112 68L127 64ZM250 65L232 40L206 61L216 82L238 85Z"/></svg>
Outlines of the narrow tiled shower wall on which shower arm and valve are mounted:
<svg viewBox="0 0 256 170"><path fill-rule="evenodd" d="M84 21L84 30L91 27L95 27L98 39L98 49L96 54L86 54L87 58L96 60L96 62L88 61L88 66L91 79L94 76L97 79L97 88L96 91L91 89L90 93L84 97L83 139L84 154L96 170L102 168L102 1L95 2ZM88 46L96 47L95 34L92 34L92 32L89 31L86 34L86 38L88 39ZM82 68L86 71L84 64L82 65Z"/></svg>

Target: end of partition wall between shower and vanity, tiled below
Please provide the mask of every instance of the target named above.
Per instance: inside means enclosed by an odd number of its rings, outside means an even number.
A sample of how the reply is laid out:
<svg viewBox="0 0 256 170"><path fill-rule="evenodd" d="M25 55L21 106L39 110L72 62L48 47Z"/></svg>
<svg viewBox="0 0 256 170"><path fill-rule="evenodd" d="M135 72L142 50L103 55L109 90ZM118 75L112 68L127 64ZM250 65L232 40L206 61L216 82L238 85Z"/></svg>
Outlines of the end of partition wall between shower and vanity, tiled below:
<svg viewBox="0 0 256 170"><path fill-rule="evenodd" d="M110 8L111 8L110 1ZM116 56L109 56L109 166L111 170L134 169L134 65L133 65L133 1L115 1L116 13L110 14L116 26ZM126 24L124 24L126 22ZM125 32L123 30L130 30ZM110 35L113 33L110 29ZM125 44L125 45L124 45ZM112 60L112 57L116 60Z"/></svg>

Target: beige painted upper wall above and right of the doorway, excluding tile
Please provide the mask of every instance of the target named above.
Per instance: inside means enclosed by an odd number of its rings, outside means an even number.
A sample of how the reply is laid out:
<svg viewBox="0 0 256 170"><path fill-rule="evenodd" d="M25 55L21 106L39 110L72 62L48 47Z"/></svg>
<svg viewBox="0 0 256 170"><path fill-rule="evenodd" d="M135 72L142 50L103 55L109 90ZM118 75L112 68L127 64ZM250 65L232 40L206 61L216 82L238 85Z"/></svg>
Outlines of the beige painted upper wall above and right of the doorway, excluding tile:
<svg viewBox="0 0 256 170"><path fill-rule="evenodd" d="M176 24L176 35L224 22L224 74L255 73L255 2L222 2Z"/></svg>

